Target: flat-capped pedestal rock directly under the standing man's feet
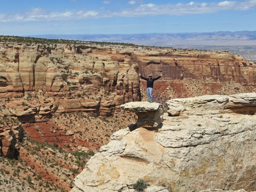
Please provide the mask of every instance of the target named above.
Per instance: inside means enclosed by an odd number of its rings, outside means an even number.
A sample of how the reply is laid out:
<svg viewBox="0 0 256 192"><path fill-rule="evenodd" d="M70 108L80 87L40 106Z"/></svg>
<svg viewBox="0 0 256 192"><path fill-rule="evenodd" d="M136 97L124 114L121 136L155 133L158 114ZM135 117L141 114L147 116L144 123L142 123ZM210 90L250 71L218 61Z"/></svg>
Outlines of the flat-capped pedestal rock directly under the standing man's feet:
<svg viewBox="0 0 256 192"><path fill-rule="evenodd" d="M150 102L128 102L120 106L125 111L132 111L138 116L137 126L157 128L163 121L163 105Z"/></svg>

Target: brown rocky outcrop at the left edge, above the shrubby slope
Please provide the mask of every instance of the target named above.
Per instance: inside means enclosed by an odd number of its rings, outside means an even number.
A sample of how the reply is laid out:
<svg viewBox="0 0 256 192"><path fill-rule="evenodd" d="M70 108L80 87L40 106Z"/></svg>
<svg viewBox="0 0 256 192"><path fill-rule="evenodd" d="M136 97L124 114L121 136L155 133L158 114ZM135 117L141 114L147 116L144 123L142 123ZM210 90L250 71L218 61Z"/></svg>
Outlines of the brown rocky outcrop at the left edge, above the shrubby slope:
<svg viewBox="0 0 256 192"><path fill-rule="evenodd" d="M4 117L0 113L0 156L8 158L16 158L19 146L17 142L21 142L25 131L15 118Z"/></svg>

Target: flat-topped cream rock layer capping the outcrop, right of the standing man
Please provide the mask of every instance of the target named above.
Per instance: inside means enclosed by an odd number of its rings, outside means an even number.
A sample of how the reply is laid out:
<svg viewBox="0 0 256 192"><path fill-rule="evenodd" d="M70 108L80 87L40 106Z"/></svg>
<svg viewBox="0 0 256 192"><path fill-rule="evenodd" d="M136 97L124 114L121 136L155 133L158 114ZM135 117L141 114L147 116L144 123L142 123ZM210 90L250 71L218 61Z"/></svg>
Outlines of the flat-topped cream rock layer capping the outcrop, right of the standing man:
<svg viewBox="0 0 256 192"><path fill-rule="evenodd" d="M256 93L235 95L204 95L171 99L166 102L170 116L206 115L219 113L256 113Z"/></svg>

